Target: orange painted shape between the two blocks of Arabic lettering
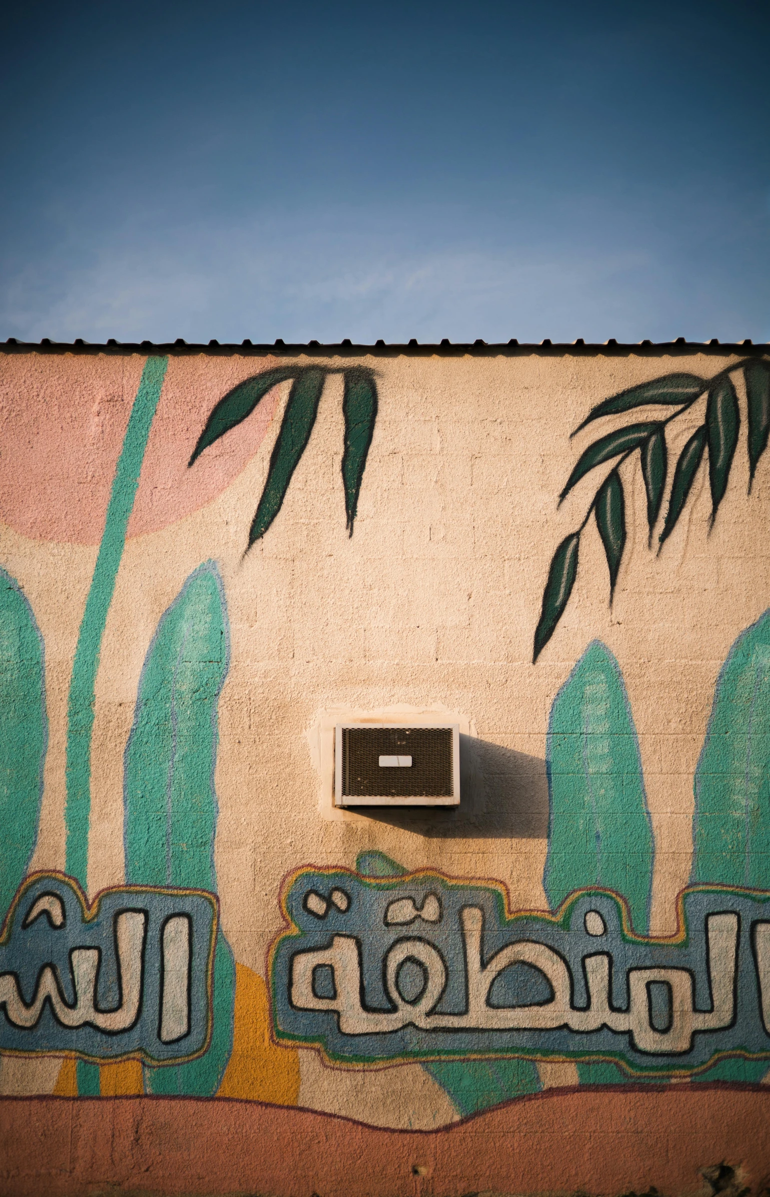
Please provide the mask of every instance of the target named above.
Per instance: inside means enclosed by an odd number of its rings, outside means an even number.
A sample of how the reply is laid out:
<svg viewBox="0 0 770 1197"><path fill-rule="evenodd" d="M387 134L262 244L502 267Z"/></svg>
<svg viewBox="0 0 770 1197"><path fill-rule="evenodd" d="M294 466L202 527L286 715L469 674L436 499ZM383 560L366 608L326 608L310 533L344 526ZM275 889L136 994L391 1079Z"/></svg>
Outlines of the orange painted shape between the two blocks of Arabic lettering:
<svg viewBox="0 0 770 1197"><path fill-rule="evenodd" d="M236 964L235 972L232 1052L217 1096L296 1106L299 1052L272 1041L267 985L262 978L245 965Z"/></svg>

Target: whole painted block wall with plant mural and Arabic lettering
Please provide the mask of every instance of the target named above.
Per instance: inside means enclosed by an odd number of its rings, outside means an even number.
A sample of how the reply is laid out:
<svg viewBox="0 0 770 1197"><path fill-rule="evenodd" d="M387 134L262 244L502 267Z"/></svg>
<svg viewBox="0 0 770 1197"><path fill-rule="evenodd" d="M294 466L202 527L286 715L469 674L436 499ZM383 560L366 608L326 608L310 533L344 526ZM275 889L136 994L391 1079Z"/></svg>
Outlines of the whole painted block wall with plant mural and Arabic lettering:
<svg viewBox="0 0 770 1197"><path fill-rule="evenodd" d="M762 351L10 352L0 415L4 1192L759 1185ZM334 809L363 713L460 809Z"/></svg>

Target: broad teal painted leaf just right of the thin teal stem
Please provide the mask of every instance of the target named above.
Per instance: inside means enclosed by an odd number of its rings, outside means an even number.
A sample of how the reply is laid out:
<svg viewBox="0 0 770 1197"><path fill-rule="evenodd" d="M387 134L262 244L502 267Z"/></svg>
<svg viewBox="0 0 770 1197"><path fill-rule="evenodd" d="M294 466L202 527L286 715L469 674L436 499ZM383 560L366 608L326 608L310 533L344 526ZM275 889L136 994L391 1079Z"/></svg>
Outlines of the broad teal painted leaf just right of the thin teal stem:
<svg viewBox="0 0 770 1197"><path fill-rule="evenodd" d="M217 709L229 663L222 579L206 561L162 616L139 682L123 774L127 882L216 892ZM146 1068L146 1092L217 1092L232 1049L234 1003L235 964L219 931L211 1045L200 1059Z"/></svg>

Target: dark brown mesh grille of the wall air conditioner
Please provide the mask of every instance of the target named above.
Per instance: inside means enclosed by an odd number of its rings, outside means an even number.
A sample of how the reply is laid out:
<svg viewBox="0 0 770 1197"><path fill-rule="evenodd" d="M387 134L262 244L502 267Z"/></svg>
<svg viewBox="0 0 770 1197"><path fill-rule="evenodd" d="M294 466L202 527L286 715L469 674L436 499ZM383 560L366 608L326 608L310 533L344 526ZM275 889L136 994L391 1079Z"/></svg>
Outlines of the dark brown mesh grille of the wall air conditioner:
<svg viewBox="0 0 770 1197"><path fill-rule="evenodd" d="M342 728L342 796L453 797L451 728ZM380 757L411 757L382 768Z"/></svg>

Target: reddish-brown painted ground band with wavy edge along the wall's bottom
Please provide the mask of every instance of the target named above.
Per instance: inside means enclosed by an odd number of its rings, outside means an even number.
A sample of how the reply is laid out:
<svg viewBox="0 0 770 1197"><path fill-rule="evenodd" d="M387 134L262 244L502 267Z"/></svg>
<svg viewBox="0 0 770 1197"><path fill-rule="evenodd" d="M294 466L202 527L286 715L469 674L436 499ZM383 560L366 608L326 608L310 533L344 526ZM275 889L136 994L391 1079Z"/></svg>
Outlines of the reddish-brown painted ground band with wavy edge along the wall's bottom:
<svg viewBox="0 0 770 1197"><path fill-rule="evenodd" d="M439 1131L386 1131L259 1102L5 1099L0 1192L461 1197L704 1193L727 1162L770 1179L770 1089L674 1084L551 1092Z"/></svg>

